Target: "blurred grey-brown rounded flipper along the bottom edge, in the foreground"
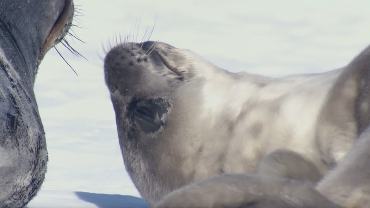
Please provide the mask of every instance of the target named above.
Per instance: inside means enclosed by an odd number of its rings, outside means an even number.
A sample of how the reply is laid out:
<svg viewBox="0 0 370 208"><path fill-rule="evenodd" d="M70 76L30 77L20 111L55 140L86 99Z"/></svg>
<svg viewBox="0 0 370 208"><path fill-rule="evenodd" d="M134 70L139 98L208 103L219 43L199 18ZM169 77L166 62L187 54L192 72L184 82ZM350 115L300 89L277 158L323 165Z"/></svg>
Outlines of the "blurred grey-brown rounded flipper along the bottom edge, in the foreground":
<svg viewBox="0 0 370 208"><path fill-rule="evenodd" d="M247 174L225 174L166 195L156 208L340 208L312 183Z"/></svg>

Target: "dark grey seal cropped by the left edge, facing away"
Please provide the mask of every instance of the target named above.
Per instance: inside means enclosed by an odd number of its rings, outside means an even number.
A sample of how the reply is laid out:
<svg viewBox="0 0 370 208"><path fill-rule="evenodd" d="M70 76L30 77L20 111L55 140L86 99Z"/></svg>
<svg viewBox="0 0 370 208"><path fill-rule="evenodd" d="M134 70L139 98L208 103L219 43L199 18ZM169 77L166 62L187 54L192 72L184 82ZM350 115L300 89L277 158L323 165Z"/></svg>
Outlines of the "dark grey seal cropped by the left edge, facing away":
<svg viewBox="0 0 370 208"><path fill-rule="evenodd" d="M40 61L71 26L72 0L0 1L0 207L23 207L44 181L47 149L33 91Z"/></svg>

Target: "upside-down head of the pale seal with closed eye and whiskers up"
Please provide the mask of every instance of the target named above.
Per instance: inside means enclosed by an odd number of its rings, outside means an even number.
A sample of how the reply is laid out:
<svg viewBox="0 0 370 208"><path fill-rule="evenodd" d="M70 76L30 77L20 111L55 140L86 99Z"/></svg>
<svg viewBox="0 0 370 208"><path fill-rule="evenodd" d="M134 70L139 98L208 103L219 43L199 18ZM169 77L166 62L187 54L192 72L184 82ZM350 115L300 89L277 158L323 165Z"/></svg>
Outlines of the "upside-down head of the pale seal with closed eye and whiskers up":
<svg viewBox="0 0 370 208"><path fill-rule="evenodd" d="M201 88L228 72L189 50L147 41L112 48L104 73L126 169L153 204L194 178Z"/></svg>

